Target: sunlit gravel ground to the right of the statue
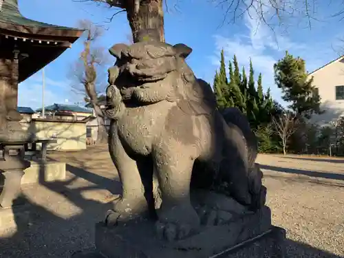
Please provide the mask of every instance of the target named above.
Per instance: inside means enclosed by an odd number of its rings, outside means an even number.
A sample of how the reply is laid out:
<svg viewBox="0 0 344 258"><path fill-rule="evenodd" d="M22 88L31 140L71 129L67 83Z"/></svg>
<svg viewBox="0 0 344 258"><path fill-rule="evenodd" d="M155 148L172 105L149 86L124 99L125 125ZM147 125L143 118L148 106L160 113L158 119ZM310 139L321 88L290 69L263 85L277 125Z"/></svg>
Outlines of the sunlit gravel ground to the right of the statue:
<svg viewBox="0 0 344 258"><path fill-rule="evenodd" d="M257 162L290 257L344 257L344 160L259 155Z"/></svg>

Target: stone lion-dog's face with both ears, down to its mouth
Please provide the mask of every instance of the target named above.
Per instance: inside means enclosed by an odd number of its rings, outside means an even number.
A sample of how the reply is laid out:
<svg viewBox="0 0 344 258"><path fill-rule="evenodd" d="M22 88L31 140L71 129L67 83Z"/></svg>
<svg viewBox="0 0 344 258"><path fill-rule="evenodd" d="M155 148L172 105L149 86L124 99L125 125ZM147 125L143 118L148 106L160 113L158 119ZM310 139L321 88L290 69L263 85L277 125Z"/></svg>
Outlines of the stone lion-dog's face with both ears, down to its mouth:
<svg viewBox="0 0 344 258"><path fill-rule="evenodd" d="M121 87L163 80L178 69L178 59L191 54L184 44L169 45L161 42L139 42L133 45L116 44L109 49L116 57L109 69L109 83Z"/></svg>

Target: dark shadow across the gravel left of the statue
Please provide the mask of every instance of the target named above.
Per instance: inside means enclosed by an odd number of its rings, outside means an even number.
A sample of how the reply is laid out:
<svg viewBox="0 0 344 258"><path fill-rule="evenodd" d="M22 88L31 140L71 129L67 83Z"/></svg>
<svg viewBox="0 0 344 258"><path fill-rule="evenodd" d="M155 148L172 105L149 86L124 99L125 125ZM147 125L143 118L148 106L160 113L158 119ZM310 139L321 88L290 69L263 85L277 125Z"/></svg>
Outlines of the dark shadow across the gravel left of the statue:
<svg viewBox="0 0 344 258"><path fill-rule="evenodd" d="M70 158L73 160L73 157ZM95 166L101 169L103 160L99 162ZM21 203L24 201L25 206L20 208L29 213L14 213L17 231L10 237L0 237L1 258L61 258L70 257L76 250L94 248L94 226L105 218L106 211L111 208L111 200L120 193L120 184L116 179L90 172L83 164L74 166L74 163L67 163L66 170L72 177L64 181L45 182L45 164L41 163L39 184L63 197L63 202L72 203L73 211L63 211L63 214L71 215L60 217L56 215L58 211L52 210L55 205L48 209L21 195L19 200ZM116 170L113 170L114 173ZM72 185L80 179L88 183L77 187ZM92 196L90 199L83 196L83 192L94 190L107 190L111 194L104 196L103 202L94 200ZM63 209L67 207L65 205Z"/></svg>

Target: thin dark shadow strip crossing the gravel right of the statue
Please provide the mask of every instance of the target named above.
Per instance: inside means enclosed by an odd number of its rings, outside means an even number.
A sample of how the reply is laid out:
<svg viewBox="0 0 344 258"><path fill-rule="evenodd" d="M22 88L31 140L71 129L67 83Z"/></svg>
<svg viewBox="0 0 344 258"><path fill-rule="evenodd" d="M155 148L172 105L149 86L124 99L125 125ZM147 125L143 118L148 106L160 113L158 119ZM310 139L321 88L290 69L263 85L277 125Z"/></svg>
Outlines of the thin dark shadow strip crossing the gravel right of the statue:
<svg viewBox="0 0 344 258"><path fill-rule="evenodd" d="M308 175L314 178L326 178L332 180L344 180L344 173L327 173L327 172L320 172L320 171L308 171L302 169L290 169L281 166L269 166L265 164L259 164L261 169L276 171L276 172L283 172L283 173L291 173L291 174L299 174L299 175Z"/></svg>

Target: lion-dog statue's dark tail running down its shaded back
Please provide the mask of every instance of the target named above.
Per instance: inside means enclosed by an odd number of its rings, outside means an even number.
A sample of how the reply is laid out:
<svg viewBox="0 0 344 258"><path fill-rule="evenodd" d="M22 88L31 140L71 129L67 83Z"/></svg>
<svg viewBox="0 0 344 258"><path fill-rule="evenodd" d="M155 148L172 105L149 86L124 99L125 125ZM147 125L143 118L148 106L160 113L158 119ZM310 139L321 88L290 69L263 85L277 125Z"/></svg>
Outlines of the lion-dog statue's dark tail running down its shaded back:
<svg viewBox="0 0 344 258"><path fill-rule="evenodd" d="M228 125L235 125L244 136L248 162L248 190L251 195L252 210L256 210L265 204L266 188L262 185L263 173L259 164L255 163L258 153L257 138L250 129L250 123L244 114L236 107L228 107L222 112L222 116ZM244 158L244 157L243 157Z"/></svg>

